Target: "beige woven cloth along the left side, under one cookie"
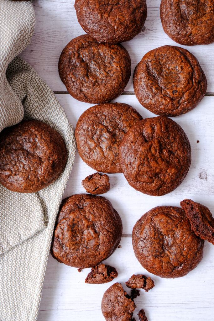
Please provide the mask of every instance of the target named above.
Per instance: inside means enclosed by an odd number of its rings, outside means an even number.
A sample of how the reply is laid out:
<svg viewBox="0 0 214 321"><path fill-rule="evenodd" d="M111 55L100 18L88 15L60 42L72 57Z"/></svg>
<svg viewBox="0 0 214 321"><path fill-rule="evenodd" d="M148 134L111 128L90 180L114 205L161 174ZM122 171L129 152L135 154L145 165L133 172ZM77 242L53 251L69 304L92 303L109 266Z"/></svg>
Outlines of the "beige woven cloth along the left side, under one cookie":
<svg viewBox="0 0 214 321"><path fill-rule="evenodd" d="M73 127L63 108L30 65L15 57L34 26L30 2L0 0L0 130L23 116L43 121L62 135L68 161L61 176L38 193L0 186L1 321L37 320L56 215L75 158Z"/></svg>

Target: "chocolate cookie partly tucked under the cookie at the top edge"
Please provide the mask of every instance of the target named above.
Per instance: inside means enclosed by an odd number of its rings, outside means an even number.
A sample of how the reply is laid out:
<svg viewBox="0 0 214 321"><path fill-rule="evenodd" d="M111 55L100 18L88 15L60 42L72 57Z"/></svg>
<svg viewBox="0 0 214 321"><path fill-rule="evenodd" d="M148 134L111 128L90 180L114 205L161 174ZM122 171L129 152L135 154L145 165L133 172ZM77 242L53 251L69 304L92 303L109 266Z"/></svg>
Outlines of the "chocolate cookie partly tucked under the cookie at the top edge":
<svg viewBox="0 0 214 321"><path fill-rule="evenodd" d="M70 95L93 104L118 97L131 74L131 59L121 45L95 42L90 36L72 39L59 58L59 76Z"/></svg>

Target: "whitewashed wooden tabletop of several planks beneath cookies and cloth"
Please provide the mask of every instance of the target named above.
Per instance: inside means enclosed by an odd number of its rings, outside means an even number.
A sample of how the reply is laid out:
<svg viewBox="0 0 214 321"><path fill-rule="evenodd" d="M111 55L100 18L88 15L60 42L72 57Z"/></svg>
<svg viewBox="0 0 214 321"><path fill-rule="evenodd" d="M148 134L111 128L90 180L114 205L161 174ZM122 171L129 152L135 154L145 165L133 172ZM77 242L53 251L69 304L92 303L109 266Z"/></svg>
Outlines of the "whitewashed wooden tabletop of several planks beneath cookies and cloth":
<svg viewBox="0 0 214 321"><path fill-rule="evenodd" d="M58 75L58 58L65 45L74 37L85 33L79 25L74 0L36 0L36 30L31 44L21 57L32 65L55 91L70 122L76 122L90 104L73 99ZM131 41L124 43L132 60L132 75L123 95L115 101L126 102L136 108L143 118L154 115L143 108L133 93L133 70L142 56L162 45L177 45L163 31L159 18L158 0L148 0L148 17L145 28ZM179 46L179 45L177 45ZM123 221L121 248L106 260L116 267L118 278L113 282L91 285L84 279L90 269L81 273L77 269L48 259L39 321L101 321L101 299L104 291L114 282L125 281L133 273L150 275L139 264L132 248L132 229L145 212L158 205L175 205L191 198L208 206L214 213L214 43L208 46L185 47L199 60L208 81L206 96L188 114L173 119L182 126L192 146L192 165L184 182L172 193L153 197L135 191L123 174L109 174L111 189L106 196ZM197 143L199 141L199 143ZM64 197L84 193L81 181L95 171L79 157L78 152ZM214 246L205 242L204 257L192 272L178 279L161 279L152 276L155 287L148 293L141 291L135 299L134 317L144 308L149 321L214 320Z"/></svg>

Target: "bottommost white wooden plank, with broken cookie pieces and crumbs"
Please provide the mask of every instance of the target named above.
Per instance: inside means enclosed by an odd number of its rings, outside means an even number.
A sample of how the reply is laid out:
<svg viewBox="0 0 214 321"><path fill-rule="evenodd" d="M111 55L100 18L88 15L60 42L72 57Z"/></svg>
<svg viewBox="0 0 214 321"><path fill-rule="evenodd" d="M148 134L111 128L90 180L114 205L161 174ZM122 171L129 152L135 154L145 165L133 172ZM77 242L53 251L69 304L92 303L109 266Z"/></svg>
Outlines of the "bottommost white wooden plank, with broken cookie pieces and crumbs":
<svg viewBox="0 0 214 321"><path fill-rule="evenodd" d="M145 273L152 277L155 287L148 293L141 290L135 299L134 317L143 308L148 320L158 321L212 321L214 313L214 247L205 242L201 263L182 278L162 279L148 273L134 256L132 239L122 238L106 263L116 267L118 277L106 284L85 284L90 269L77 269L57 262L49 256L38 321L101 321L103 293L115 282L123 285L132 274ZM127 255L128 254L128 255Z"/></svg>

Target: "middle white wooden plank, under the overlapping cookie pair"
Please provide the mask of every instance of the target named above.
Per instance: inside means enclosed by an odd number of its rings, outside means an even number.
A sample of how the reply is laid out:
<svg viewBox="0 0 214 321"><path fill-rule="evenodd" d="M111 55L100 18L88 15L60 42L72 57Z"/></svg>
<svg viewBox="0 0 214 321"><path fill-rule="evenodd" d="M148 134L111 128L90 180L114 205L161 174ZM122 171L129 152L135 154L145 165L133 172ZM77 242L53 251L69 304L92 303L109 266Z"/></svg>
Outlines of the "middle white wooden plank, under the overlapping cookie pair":
<svg viewBox="0 0 214 321"><path fill-rule="evenodd" d="M92 106L73 99L70 95L57 95L69 121L76 126L77 120L84 110ZM143 118L155 116L143 108L134 95L120 96L116 101L126 102L136 108ZM135 222L158 205L179 206L184 198L191 198L207 205L214 213L213 178L214 168L210 166L214 159L214 127L210 117L214 97L204 97L201 103L191 112L174 117L186 132L192 146L192 164L183 183L167 195L155 197L142 194L128 185L124 175L109 174L111 189L104 195L120 214L123 221L123 233L131 234ZM199 140L199 143L197 143ZM71 177L65 190L64 197L72 194L85 193L81 181L96 172L86 165L78 152L74 162Z"/></svg>

